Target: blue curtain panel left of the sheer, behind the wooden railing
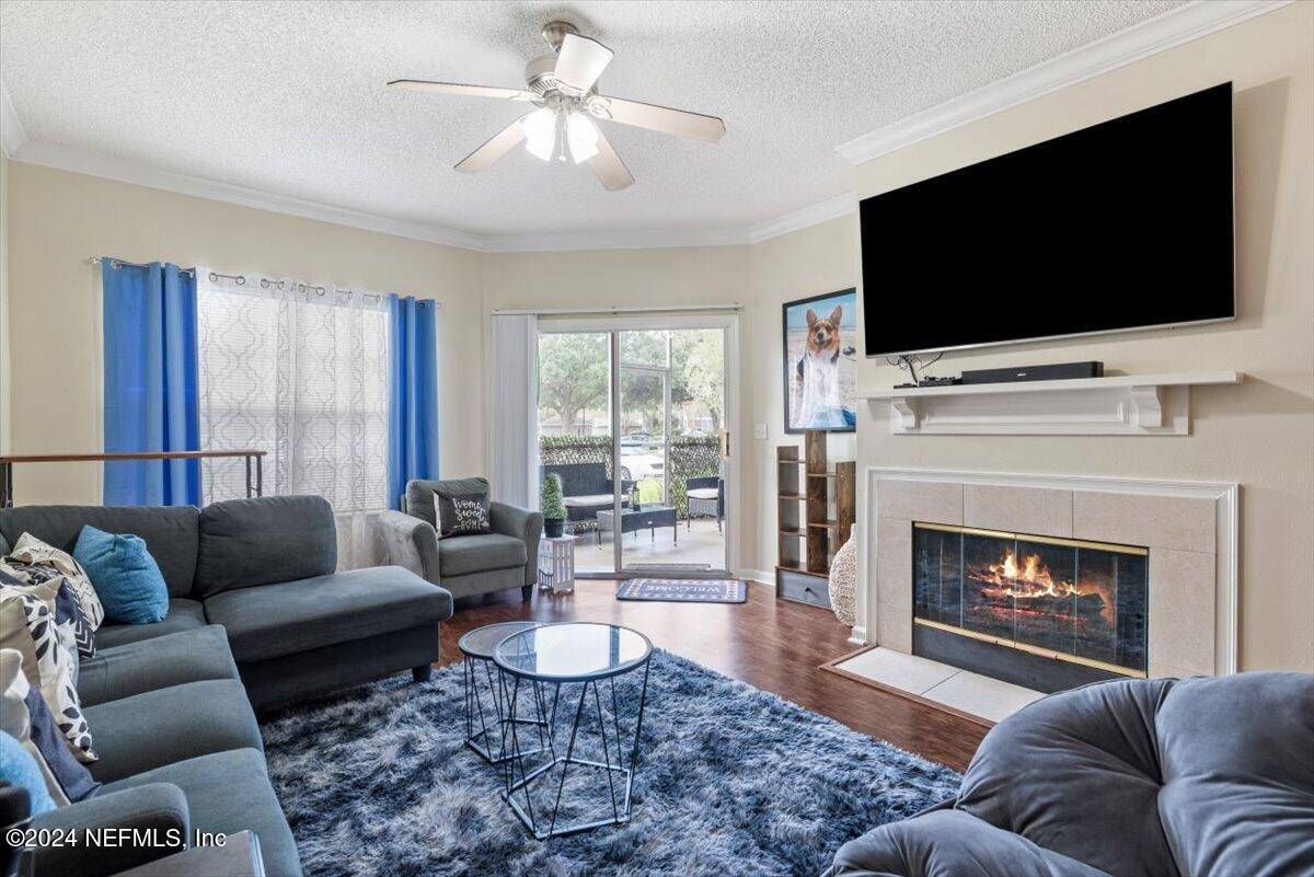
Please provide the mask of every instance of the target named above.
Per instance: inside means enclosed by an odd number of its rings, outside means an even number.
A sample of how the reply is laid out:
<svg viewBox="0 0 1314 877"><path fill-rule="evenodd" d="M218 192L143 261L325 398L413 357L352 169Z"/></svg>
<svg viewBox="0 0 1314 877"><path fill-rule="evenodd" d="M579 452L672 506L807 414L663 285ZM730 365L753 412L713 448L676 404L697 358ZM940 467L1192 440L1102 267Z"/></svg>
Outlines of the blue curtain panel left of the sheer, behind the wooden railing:
<svg viewBox="0 0 1314 877"><path fill-rule="evenodd" d="M196 276L101 260L105 452L197 450ZM200 505L196 460L105 463L106 505Z"/></svg>

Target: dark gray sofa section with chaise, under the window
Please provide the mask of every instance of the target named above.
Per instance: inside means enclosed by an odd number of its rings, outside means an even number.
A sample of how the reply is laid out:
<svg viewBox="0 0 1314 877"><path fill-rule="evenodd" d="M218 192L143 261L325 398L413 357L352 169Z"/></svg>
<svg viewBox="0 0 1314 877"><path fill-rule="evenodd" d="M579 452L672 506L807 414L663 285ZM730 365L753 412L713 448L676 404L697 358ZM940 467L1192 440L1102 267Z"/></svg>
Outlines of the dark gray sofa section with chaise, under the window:
<svg viewBox="0 0 1314 877"><path fill-rule="evenodd" d="M22 533L72 553L83 525L146 541L170 592L163 621L105 625L101 647L221 625L256 710L402 670L427 679L452 595L399 567L336 572L332 509L319 496L192 505L0 509L0 553Z"/></svg>

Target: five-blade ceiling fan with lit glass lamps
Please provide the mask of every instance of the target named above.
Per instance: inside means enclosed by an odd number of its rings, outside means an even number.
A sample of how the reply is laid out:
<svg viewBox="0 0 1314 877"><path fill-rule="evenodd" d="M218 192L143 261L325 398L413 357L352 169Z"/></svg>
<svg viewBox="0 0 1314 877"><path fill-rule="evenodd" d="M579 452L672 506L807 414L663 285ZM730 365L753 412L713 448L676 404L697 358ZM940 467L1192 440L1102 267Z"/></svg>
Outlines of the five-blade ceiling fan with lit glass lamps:
<svg viewBox="0 0 1314 877"><path fill-rule="evenodd" d="M568 156L576 164L587 161L602 185L615 192L633 184L635 177L593 119L610 119L708 143L716 143L725 134L725 122L715 116L599 95L598 77L615 53L597 39L581 37L569 21L543 25L543 38L552 46L553 54L535 58L526 66L523 89L419 79L394 79L388 85L413 92L524 101L537 108L461 159L456 169L465 173L491 167L523 140L526 150L544 161L565 161Z"/></svg>

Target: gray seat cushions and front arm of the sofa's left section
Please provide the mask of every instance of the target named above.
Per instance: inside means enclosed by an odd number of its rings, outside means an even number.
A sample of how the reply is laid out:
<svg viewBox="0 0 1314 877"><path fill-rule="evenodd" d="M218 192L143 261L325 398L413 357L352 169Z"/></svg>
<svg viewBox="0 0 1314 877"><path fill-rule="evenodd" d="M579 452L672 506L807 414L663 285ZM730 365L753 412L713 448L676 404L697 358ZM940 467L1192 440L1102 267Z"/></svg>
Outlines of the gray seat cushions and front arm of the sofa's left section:
<svg viewBox="0 0 1314 877"><path fill-rule="evenodd" d="M298 877L301 859L269 784L264 746L223 628L139 639L81 662L83 713L104 785L91 798L32 821L37 830L251 831L265 873ZM106 877L171 848L39 847L33 877ZM179 877L193 877L180 870ZM204 876L194 876L204 877Z"/></svg>

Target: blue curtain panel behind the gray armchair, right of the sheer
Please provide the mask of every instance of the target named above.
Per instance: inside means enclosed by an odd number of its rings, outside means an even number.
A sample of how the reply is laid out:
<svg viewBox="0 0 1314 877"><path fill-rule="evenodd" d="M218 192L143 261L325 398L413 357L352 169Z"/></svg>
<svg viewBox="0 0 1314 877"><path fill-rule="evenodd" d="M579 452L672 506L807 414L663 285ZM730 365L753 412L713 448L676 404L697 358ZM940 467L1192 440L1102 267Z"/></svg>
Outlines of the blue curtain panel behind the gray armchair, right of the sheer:
<svg viewBox="0 0 1314 877"><path fill-rule="evenodd" d="M388 499L438 478L438 314L430 299L388 297Z"/></svg>

